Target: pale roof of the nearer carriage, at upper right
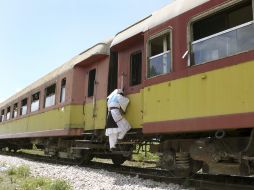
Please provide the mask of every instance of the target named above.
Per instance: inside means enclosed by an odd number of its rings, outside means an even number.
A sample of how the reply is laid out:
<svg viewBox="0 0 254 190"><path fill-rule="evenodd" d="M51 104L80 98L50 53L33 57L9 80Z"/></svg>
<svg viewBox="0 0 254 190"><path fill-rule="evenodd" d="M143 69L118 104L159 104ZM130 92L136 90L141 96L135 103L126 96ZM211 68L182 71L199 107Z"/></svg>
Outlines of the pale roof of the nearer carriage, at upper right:
<svg viewBox="0 0 254 190"><path fill-rule="evenodd" d="M158 11L155 11L150 16L119 32L115 36L111 47L120 44L132 36L154 28L167 20L170 20L171 18L174 18L208 1L209 0L174 0L172 3L166 5Z"/></svg>

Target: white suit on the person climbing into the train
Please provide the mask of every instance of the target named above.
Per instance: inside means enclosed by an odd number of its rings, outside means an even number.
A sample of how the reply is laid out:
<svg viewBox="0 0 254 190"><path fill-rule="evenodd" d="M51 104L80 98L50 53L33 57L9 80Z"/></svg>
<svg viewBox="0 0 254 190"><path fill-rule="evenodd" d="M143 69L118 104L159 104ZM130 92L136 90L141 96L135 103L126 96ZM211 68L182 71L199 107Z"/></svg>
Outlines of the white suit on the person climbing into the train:
<svg viewBox="0 0 254 190"><path fill-rule="evenodd" d="M116 148L115 146L117 139L123 139L125 134L131 129L129 122L122 116L120 112L120 108L125 112L129 104L129 99L122 96L120 93L123 93L123 91L121 89L116 89L108 96L108 111L111 112L111 115L117 124L117 128L106 129L105 135L109 137L110 149Z"/></svg>

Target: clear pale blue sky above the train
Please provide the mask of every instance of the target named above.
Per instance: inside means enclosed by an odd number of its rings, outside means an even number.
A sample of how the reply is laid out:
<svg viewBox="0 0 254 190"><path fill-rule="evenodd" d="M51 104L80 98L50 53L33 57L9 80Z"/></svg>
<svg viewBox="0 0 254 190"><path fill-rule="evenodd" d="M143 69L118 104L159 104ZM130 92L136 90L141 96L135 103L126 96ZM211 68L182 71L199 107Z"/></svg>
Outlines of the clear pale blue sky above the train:
<svg viewBox="0 0 254 190"><path fill-rule="evenodd" d="M0 0L0 102L172 0Z"/></svg>

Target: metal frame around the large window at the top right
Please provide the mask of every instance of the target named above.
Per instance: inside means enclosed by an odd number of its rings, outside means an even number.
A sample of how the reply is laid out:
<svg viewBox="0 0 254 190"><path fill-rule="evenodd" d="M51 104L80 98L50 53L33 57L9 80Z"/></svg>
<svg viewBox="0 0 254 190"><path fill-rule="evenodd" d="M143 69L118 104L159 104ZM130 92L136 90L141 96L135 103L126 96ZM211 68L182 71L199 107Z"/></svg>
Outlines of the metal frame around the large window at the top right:
<svg viewBox="0 0 254 190"><path fill-rule="evenodd" d="M194 64L194 61L192 60L192 43L193 43L193 27L192 27L193 25L192 24L195 23L196 21L204 19L205 17L216 14L216 13L222 11L223 9L227 9L227 8L230 8L231 6L237 5L239 3L243 3L243 1L244 0L231 0L231 1L228 1L228 2L224 2L224 3L220 4L220 6L212 7L212 8L210 8L209 10L207 10L205 12L202 12L198 15L193 16L189 20L189 22L187 24L187 51L186 51L186 52L188 52L188 61L187 61L187 66L188 67L195 67L195 66L198 66L198 65L203 65L203 64L211 62L211 61L208 61L208 62L203 62L203 63L200 63L200 64ZM254 22L254 3L253 3L253 0L252 0L252 15L253 15L253 20L252 21ZM243 24L241 24L241 25L243 25ZM233 28L237 28L237 27L238 26L233 27ZM227 29L227 30L230 30L230 29ZM223 32L224 31L222 31L220 33L223 33ZM205 38L209 38L209 36L205 37ZM196 41L198 41L198 40L196 40ZM240 53L242 53L242 52L238 52L236 54L233 54L233 55L230 55L230 56L227 56L227 57L239 55ZM212 61L225 59L227 57L219 58L219 59L212 60Z"/></svg>

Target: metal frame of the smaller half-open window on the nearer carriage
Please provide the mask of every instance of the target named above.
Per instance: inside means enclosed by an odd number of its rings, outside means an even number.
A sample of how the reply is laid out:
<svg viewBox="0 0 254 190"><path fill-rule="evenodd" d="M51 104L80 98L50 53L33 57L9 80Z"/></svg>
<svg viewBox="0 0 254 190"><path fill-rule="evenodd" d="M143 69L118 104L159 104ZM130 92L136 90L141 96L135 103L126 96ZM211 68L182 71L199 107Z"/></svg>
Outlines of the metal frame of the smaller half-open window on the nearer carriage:
<svg viewBox="0 0 254 190"><path fill-rule="evenodd" d="M149 77L148 76L148 72L149 72L149 58L150 58L150 41L159 37L159 36L162 36L162 35L165 35L169 33L169 52L170 52L170 67L169 67L169 72L168 73L162 73L162 74L159 74L159 75L156 75L156 76L152 76L152 77ZM167 27L166 29L163 29L162 31L154 34L154 35L151 35L150 37L148 37L147 41L146 41L146 79L153 79L155 77L160 77L160 76L164 76L164 75L168 75L170 74L172 71L173 71L173 28L171 26ZM167 52L167 51L165 51ZM156 57L156 56L159 56L159 55L162 55L164 54L165 52L163 53L160 53L160 54L157 54L157 55L154 55L154 56L151 56L151 57Z"/></svg>

